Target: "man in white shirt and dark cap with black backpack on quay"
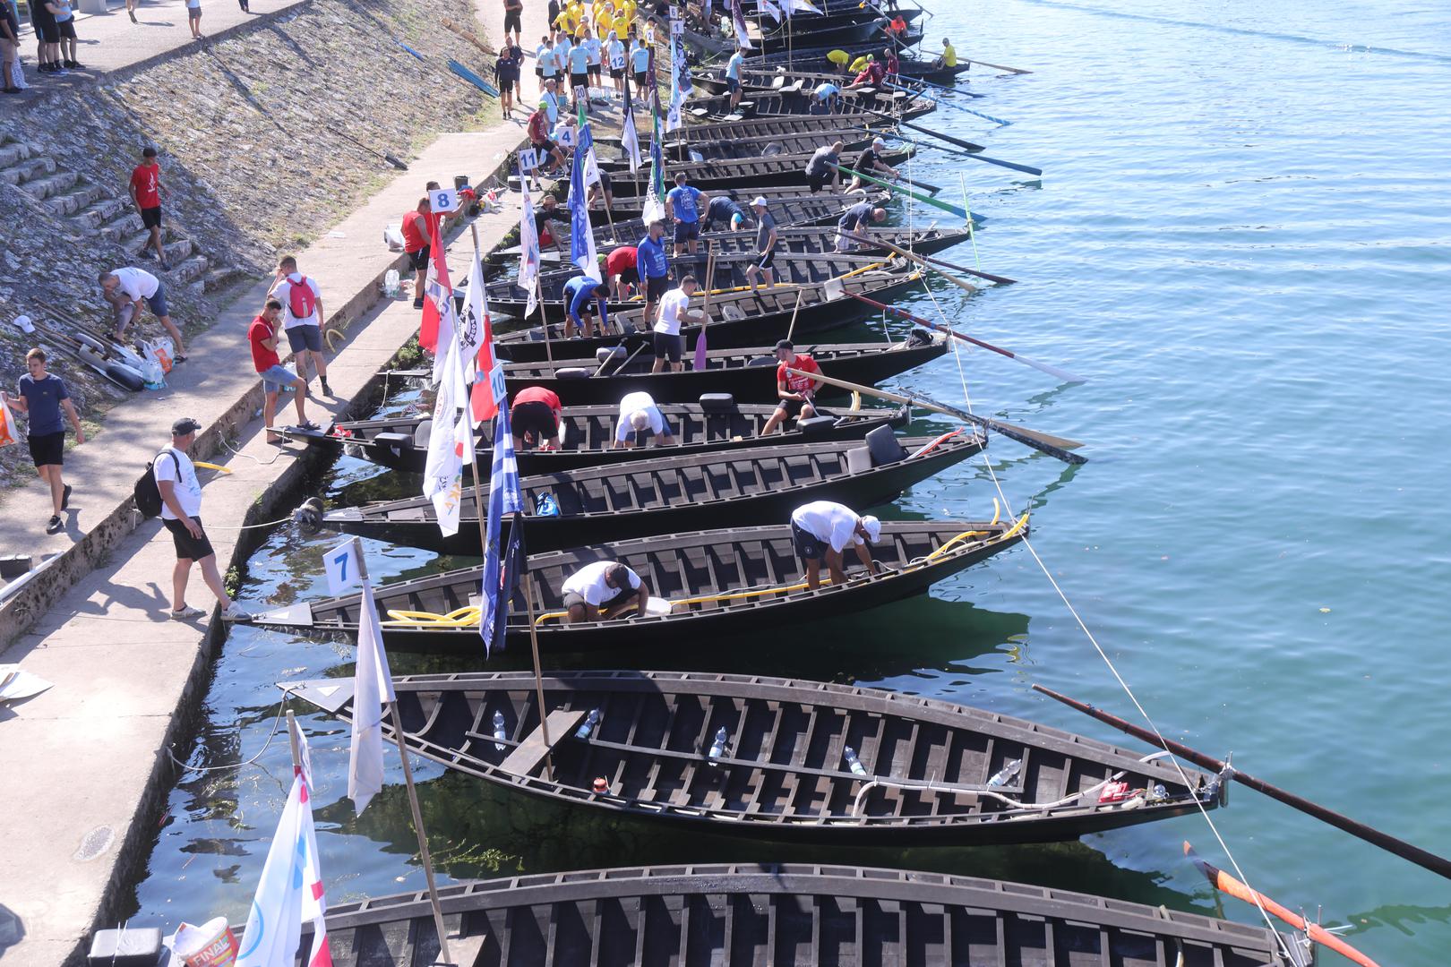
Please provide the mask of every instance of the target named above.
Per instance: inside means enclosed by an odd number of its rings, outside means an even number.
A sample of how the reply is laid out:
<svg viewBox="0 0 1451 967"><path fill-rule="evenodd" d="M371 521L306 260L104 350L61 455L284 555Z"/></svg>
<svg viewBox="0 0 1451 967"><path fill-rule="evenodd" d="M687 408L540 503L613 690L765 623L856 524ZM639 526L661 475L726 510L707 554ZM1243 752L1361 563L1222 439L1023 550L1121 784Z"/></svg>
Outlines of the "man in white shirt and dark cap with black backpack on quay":
<svg viewBox="0 0 1451 967"><path fill-rule="evenodd" d="M192 564L202 565L202 580L216 594L222 606L222 621L245 621L251 618L242 606L234 602L222 586L216 570L216 552L202 529L202 484L196 480L196 467L186 455L196 442L196 431L202 425L192 418L178 419L171 425L171 445L157 454L152 473L157 490L161 491L161 523L171 532L177 549L177 564L171 570L171 618L190 621L206 615L200 607L186 603L186 584L192 576Z"/></svg>

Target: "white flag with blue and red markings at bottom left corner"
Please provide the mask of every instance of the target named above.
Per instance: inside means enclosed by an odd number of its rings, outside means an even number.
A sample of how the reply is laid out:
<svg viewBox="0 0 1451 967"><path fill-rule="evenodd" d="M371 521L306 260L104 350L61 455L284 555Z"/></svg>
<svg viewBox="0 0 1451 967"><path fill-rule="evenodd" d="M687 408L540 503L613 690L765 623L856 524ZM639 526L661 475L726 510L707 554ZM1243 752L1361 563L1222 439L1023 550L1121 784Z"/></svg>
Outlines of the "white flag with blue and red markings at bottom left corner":
<svg viewBox="0 0 1451 967"><path fill-rule="evenodd" d="M318 839L312 826L312 797L308 794L308 783L296 776L252 896L237 967L295 963L303 921L313 924L308 967L329 967L332 954L328 950L325 912Z"/></svg>

